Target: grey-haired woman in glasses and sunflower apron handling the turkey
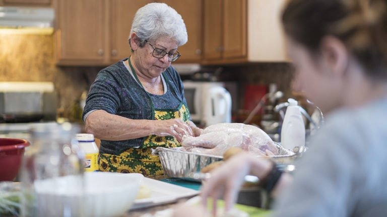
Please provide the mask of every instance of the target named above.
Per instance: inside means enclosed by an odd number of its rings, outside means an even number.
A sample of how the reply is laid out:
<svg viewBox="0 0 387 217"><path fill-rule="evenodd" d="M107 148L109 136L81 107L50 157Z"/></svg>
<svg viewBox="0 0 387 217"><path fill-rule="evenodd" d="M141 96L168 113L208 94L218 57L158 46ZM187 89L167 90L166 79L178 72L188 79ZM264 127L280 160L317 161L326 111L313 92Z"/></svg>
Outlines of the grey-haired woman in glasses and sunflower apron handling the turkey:
<svg viewBox="0 0 387 217"><path fill-rule="evenodd" d="M170 65L187 42L181 16L166 4L139 9L129 37L132 55L103 70L86 99L87 133L101 139L99 169L163 174L151 148L178 147L200 132L190 122L179 74Z"/></svg>

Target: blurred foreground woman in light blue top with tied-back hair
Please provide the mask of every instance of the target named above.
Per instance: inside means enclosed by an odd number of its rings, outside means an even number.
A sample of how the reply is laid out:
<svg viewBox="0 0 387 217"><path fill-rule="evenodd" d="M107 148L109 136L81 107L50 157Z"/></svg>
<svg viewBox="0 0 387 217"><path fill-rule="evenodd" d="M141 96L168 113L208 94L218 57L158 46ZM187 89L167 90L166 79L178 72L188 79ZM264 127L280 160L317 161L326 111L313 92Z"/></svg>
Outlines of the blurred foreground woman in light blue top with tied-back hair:
<svg viewBox="0 0 387 217"><path fill-rule="evenodd" d="M236 155L205 182L203 203L224 190L230 208L252 173L277 196L274 216L386 216L387 0L292 0L283 23L294 88L326 113L325 125L293 177ZM191 209L175 216L205 215Z"/></svg>

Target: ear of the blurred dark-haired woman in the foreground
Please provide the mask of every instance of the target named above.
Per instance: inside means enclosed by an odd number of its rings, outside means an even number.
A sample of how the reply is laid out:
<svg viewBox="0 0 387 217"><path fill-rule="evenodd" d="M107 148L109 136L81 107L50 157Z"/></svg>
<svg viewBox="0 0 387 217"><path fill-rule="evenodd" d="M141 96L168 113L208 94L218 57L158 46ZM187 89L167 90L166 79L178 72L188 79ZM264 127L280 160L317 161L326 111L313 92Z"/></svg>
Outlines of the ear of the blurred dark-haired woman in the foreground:
<svg viewBox="0 0 387 217"><path fill-rule="evenodd" d="M321 54L330 71L335 75L345 74L349 63L349 52L344 43L336 37L325 36L321 40Z"/></svg>

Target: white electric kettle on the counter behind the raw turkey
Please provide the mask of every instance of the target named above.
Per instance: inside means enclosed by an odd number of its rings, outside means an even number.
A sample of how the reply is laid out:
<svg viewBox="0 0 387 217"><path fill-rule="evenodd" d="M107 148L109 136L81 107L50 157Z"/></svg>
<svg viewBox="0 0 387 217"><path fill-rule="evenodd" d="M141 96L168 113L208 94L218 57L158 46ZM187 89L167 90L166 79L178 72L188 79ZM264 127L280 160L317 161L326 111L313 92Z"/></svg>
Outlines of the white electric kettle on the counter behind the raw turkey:
<svg viewBox="0 0 387 217"><path fill-rule="evenodd" d="M210 86L203 92L203 116L201 123L210 126L231 122L231 95L222 86Z"/></svg>

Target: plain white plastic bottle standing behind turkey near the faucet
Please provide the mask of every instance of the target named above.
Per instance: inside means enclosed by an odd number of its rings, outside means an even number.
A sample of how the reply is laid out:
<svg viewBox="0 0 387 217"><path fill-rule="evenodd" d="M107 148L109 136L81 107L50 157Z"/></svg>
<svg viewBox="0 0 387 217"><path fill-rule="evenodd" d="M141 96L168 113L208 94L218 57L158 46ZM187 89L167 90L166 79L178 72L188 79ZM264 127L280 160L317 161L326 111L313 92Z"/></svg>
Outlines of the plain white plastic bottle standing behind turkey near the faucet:
<svg viewBox="0 0 387 217"><path fill-rule="evenodd" d="M296 146L305 145L305 125L297 101L289 98L288 102L281 129L281 144L293 150Z"/></svg>

